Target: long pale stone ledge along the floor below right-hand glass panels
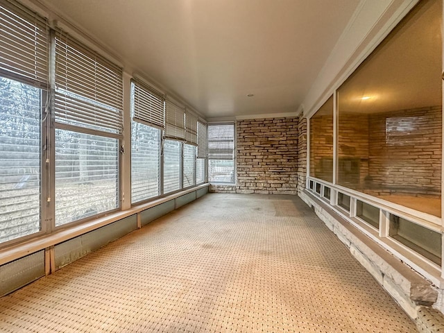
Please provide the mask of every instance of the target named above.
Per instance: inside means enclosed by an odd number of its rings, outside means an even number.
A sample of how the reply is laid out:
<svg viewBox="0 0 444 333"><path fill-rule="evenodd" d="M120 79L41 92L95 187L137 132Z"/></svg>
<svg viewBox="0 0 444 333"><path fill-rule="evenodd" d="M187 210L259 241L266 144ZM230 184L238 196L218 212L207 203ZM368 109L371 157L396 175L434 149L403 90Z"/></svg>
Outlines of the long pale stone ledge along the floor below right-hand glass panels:
<svg viewBox="0 0 444 333"><path fill-rule="evenodd" d="M438 289L412 268L359 231L326 203L301 191L300 198L314 207L316 215L350 249L350 253L373 275L412 318L418 318L420 305L433 305ZM428 331L425 331L428 332Z"/></svg>

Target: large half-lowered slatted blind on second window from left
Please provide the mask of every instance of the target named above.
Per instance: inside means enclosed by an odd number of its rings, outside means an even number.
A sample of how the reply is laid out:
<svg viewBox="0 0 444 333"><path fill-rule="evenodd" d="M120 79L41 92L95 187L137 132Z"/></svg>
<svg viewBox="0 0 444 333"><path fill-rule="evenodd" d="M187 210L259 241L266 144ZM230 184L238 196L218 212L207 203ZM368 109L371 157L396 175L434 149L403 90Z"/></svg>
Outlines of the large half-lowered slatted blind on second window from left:
<svg viewBox="0 0 444 333"><path fill-rule="evenodd" d="M56 121L121 135L122 69L56 33Z"/></svg>

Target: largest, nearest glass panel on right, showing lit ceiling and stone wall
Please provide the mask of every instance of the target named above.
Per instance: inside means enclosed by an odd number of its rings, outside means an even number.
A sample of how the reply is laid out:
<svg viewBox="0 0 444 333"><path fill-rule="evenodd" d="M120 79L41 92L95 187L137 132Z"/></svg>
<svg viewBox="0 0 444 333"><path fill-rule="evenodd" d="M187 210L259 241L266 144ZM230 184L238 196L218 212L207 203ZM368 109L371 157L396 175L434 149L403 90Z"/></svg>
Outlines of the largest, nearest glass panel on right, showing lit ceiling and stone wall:
<svg viewBox="0 0 444 333"><path fill-rule="evenodd" d="M442 12L420 1L337 92L338 184L435 216Z"/></svg>

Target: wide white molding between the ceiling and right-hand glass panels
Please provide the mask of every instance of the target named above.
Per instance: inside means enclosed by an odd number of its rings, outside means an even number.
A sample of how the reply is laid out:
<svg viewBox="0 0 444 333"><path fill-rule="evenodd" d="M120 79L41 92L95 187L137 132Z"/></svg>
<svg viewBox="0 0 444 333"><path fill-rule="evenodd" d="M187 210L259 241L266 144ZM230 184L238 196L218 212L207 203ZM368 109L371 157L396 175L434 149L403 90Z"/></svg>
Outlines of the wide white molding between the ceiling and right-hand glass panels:
<svg viewBox="0 0 444 333"><path fill-rule="evenodd" d="M309 118L407 15L418 0L361 0L302 102Z"/></svg>

